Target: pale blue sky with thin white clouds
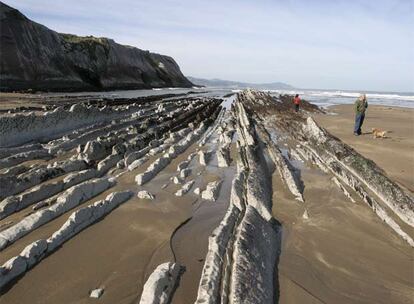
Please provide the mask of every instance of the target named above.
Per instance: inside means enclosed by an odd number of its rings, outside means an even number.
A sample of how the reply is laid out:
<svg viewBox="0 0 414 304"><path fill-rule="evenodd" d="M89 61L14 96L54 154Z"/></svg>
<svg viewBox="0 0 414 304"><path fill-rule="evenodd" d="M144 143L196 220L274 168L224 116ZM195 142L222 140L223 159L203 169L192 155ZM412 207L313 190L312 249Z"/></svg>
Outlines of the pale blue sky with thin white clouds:
<svg viewBox="0 0 414 304"><path fill-rule="evenodd" d="M5 0L63 33L172 56L185 75L414 91L414 0Z"/></svg>

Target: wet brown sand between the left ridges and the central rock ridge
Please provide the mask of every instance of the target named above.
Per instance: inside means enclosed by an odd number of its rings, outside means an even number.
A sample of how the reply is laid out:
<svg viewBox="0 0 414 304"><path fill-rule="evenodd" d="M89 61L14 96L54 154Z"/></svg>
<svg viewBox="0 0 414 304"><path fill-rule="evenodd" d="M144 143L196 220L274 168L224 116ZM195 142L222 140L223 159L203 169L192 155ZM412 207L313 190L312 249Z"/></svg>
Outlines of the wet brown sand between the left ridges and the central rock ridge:
<svg viewBox="0 0 414 304"><path fill-rule="evenodd" d="M207 145L210 149L216 146ZM200 166L198 156L195 156L189 166L191 175L185 179L194 179L195 184L189 193L176 197L174 193L182 185L172 183L170 177L178 173L177 165L197 148L198 145L193 144L153 180L138 187L134 182L135 175L144 172L160 154L150 157L139 168L118 177L114 187L4 249L1 263L19 254L34 240L49 237L74 210L114 191L130 189L136 193L138 189L145 189L156 193L153 201L137 197L130 199L64 243L0 296L0 303L27 303L29 299L32 303L93 303L95 300L88 294L98 287L105 289L100 303L135 303L152 271L168 261L176 261L186 267L174 303L194 302L208 237L226 212L235 170L233 166L217 168L215 155L207 167ZM224 184L216 202L204 201L192 193L196 187L203 190L208 182L218 179L224 179ZM160 189L164 184L168 186ZM30 206L14 216L21 216L28 209ZM60 284L63 276L65 284ZM41 282L41 285L34 282Z"/></svg>

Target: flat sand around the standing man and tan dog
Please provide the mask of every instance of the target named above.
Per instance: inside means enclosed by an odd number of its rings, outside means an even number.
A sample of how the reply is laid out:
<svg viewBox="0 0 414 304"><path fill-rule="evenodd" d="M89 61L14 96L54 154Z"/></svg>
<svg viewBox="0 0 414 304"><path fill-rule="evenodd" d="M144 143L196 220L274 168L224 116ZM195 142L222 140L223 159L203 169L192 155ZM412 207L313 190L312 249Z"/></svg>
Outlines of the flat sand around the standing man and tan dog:
<svg viewBox="0 0 414 304"><path fill-rule="evenodd" d="M414 109L370 105L361 136L352 133L352 105L333 106L328 111L334 115L313 116L331 134L372 159L394 181L414 191ZM388 131L387 138L374 139L371 128Z"/></svg>

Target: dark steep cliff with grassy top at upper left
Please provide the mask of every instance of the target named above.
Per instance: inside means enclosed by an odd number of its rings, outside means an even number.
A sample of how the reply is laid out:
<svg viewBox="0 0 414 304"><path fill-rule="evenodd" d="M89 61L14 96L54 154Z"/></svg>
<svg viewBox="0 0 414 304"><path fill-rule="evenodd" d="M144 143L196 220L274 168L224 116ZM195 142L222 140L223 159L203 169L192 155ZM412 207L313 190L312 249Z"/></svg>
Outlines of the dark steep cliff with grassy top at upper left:
<svg viewBox="0 0 414 304"><path fill-rule="evenodd" d="M0 90L190 87L173 58L107 38L60 34L0 2Z"/></svg>

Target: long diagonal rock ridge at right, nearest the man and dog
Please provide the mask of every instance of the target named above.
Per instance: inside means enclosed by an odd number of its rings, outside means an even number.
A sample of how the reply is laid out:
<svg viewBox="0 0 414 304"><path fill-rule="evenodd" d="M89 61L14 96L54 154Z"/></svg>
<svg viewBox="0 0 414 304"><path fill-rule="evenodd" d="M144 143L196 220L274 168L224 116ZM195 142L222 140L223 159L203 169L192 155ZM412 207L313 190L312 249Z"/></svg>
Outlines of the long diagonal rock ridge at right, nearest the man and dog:
<svg viewBox="0 0 414 304"><path fill-rule="evenodd" d="M381 220L414 247L414 240L394 219L397 216L414 227L414 201L409 194L373 161L320 128L311 117L302 126L302 136L307 139L303 148L308 159L353 189Z"/></svg>

